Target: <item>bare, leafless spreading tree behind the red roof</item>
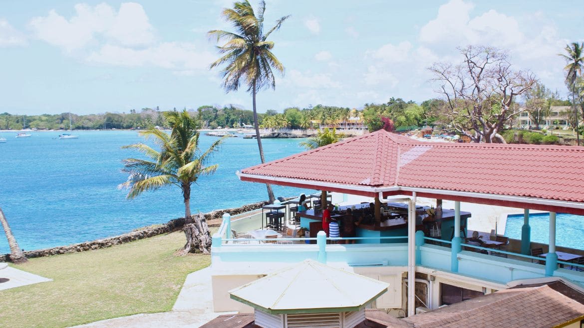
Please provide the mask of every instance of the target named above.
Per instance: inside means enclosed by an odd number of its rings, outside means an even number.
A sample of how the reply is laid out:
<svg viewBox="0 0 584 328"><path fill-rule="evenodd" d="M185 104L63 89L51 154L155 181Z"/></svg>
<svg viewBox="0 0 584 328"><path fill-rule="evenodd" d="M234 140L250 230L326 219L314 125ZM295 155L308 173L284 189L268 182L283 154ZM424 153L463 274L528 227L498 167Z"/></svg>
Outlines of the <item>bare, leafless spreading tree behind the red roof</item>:
<svg viewBox="0 0 584 328"><path fill-rule="evenodd" d="M503 124L522 110L513 106L536 83L531 72L513 71L509 55L486 46L458 48L464 60L458 65L437 62L429 70L439 82L436 92L445 105L443 120L473 142L501 142Z"/></svg>

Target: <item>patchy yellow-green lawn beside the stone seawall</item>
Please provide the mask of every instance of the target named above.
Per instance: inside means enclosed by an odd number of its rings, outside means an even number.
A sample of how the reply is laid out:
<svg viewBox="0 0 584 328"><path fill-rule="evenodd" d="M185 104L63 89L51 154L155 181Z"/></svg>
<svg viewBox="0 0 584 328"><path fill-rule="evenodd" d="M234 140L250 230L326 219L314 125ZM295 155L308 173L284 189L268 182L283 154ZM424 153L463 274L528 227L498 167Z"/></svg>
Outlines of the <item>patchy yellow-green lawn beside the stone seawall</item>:
<svg viewBox="0 0 584 328"><path fill-rule="evenodd" d="M67 327L169 311L186 275L211 262L208 255L173 255L183 245L185 234L174 232L30 259L15 267L53 281L0 291L0 327Z"/></svg>

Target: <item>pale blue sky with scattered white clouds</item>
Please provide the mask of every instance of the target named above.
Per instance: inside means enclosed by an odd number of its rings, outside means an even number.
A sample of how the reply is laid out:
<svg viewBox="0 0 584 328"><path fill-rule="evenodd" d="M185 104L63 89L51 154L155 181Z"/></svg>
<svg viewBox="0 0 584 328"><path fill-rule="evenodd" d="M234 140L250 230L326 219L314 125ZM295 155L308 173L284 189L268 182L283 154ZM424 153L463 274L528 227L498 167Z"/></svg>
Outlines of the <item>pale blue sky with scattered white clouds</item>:
<svg viewBox="0 0 584 328"><path fill-rule="evenodd" d="M285 73L258 111L317 104L360 108L437 97L427 68L460 62L457 47L509 51L562 97L567 43L584 41L580 1L266 1L266 29ZM255 8L258 2L251 0ZM225 93L209 30L231 30L232 1L0 0L0 113L124 113L237 104Z"/></svg>

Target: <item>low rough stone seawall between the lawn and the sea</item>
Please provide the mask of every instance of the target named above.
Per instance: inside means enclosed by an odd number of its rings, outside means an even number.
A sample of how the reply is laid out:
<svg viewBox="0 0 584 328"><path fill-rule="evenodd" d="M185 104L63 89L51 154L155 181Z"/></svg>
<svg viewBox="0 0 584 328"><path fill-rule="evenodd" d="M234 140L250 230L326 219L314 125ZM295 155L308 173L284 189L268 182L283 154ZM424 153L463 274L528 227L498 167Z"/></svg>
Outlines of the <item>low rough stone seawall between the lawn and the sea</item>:
<svg viewBox="0 0 584 328"><path fill-rule="evenodd" d="M218 219L223 217L224 213L229 213L231 215L241 214L253 210L257 210L258 208L262 208L263 205L268 204L267 201L261 201L258 203L247 204L242 207L236 208L225 208L223 210L214 210L208 213L205 213L205 219L210 221L212 219ZM93 249L100 249L105 247L111 247L114 245L120 245L123 243L133 242L134 240L143 239L154 237L157 235L162 235L163 233L169 233L173 231L178 231L182 229L183 225L185 225L185 218L178 218L168 221L162 225L152 225L152 226L145 226L143 228L135 229L132 232L124 233L123 235L114 236L110 238L103 238L93 240L91 242L84 242L84 243L77 243L67 246L59 246L47 249L39 249L39 250L29 250L24 252L27 258L32 257L42 257L42 256L52 256L58 254L67 254L67 253L76 253L76 252L85 252L86 250L93 250ZM10 261L9 254L0 255L0 262L7 262Z"/></svg>

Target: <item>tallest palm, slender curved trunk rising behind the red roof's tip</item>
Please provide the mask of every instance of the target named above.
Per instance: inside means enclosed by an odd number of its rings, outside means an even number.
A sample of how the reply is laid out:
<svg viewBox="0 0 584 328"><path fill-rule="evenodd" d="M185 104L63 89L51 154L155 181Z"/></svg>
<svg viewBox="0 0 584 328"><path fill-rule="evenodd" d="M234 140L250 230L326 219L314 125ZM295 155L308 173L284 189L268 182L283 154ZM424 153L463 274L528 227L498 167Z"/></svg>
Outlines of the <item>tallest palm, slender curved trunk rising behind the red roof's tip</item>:
<svg viewBox="0 0 584 328"><path fill-rule="evenodd" d="M223 46L218 46L219 53L223 56L210 65L210 69L226 64L223 69L223 88L226 92L237 91L239 85L244 83L248 92L252 94L253 125L256 130L259 156L265 163L262 148L262 138L259 135L258 112L256 110L256 93L262 88L276 88L274 80L275 69L284 74L284 66L272 53L273 41L267 41L272 32L279 30L284 20L290 16L283 16L276 20L276 25L266 33L263 31L263 15L266 11L266 3L260 1L259 11L253 11L248 0L235 2L233 8L225 8L221 13L227 22L231 23L235 32L223 30L211 30L208 36L216 42L225 40ZM274 192L269 184L266 184L270 203L274 201Z"/></svg>

